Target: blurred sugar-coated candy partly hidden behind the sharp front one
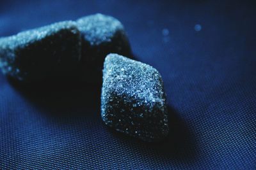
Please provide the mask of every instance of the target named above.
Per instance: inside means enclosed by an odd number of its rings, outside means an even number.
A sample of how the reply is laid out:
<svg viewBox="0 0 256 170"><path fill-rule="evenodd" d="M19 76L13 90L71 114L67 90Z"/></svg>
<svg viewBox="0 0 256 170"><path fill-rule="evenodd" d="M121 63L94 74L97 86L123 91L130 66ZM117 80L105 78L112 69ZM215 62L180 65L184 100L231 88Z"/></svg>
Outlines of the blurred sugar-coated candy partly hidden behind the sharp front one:
<svg viewBox="0 0 256 170"><path fill-rule="evenodd" d="M77 28L82 35L81 73L91 81L102 80L103 62L109 53L131 56L124 26L116 18L100 13L79 18ZM88 68L91 71L86 71ZM93 73L93 74L92 74Z"/></svg>

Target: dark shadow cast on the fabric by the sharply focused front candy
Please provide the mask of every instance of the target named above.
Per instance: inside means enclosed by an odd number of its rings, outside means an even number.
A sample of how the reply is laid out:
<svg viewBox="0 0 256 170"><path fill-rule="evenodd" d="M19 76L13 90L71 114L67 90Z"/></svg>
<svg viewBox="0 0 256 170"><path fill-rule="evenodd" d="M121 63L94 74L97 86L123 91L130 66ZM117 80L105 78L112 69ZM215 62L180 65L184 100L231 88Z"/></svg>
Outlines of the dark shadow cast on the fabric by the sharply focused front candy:
<svg viewBox="0 0 256 170"><path fill-rule="evenodd" d="M170 131L163 141L147 143L121 132L117 132L110 127L108 129L113 136L124 141L131 141L134 150L139 150L143 152L143 154L148 152L150 157L152 157L150 153L155 152L159 155L163 155L165 159L195 161L199 153L195 138L193 138L188 126L186 126L182 118L179 117L179 114L170 106L168 106L167 109Z"/></svg>

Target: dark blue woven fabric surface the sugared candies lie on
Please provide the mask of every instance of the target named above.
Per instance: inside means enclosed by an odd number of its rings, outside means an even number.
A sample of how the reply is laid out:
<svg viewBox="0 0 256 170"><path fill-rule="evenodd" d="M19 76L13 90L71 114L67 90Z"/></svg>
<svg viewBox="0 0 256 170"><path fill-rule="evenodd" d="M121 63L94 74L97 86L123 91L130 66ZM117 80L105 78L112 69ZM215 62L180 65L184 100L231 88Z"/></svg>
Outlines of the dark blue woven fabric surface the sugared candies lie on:
<svg viewBox="0 0 256 170"><path fill-rule="evenodd" d="M163 76L170 136L148 144L108 129L100 87L25 89L0 74L0 169L256 169L255 7L1 1L0 36L97 12L118 18L136 59Z"/></svg>

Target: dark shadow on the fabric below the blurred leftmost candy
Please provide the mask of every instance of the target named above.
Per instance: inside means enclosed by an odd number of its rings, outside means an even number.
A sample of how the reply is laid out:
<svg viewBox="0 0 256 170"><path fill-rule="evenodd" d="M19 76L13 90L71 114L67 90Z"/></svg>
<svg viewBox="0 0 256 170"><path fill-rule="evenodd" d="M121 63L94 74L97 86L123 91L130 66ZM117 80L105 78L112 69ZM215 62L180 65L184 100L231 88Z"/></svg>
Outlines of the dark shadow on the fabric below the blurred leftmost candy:
<svg viewBox="0 0 256 170"><path fill-rule="evenodd" d="M79 118L90 110L100 113L100 84L78 81L22 84L12 78L8 80L15 90L49 117Z"/></svg>

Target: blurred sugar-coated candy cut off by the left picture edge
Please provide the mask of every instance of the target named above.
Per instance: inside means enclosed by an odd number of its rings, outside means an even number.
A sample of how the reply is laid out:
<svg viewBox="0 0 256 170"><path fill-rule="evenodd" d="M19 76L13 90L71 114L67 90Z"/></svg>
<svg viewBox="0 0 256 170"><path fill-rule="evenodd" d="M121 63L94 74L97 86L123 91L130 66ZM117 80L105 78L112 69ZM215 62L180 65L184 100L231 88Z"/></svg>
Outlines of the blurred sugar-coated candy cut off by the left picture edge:
<svg viewBox="0 0 256 170"><path fill-rule="evenodd" d="M3 73L23 82L71 77L80 59L76 22L58 22L0 39Z"/></svg>

